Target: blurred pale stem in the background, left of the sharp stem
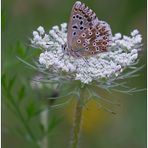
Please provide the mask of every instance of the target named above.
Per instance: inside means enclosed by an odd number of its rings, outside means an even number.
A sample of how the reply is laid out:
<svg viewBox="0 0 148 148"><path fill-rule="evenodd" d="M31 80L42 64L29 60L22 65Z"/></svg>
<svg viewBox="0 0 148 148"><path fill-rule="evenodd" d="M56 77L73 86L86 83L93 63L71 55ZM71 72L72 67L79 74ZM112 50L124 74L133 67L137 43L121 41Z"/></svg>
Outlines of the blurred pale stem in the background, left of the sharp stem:
<svg viewBox="0 0 148 148"><path fill-rule="evenodd" d="M45 131L48 130L48 116L49 116L49 111L48 111L48 109L45 109L41 113L41 117L40 117L41 123L42 123ZM41 140L40 147L41 148L48 148L48 136L44 136L44 138Z"/></svg>

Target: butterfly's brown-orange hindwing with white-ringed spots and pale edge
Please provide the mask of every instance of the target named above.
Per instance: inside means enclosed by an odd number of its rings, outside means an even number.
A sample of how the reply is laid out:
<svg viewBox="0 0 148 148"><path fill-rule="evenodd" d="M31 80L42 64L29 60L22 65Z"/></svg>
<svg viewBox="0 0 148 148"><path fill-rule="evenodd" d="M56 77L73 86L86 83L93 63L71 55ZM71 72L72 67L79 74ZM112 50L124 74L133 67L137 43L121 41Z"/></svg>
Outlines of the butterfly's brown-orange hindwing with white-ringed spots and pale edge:
<svg viewBox="0 0 148 148"><path fill-rule="evenodd" d="M89 56L108 50L112 44L112 32L106 22L99 21L96 26L82 32L76 40L79 54Z"/></svg>

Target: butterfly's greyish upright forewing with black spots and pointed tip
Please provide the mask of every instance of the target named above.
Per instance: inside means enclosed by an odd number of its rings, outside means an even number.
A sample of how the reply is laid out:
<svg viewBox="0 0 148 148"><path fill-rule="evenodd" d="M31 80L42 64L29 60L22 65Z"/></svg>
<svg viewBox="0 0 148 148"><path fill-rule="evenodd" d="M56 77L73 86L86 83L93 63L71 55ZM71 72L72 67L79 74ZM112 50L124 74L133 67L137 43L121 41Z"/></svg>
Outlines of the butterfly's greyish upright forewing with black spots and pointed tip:
<svg viewBox="0 0 148 148"><path fill-rule="evenodd" d="M71 11L71 17L68 24L67 41L68 47L77 50L76 39L87 28L92 26L92 20L98 22L96 14L85 6L85 4L77 1Z"/></svg>

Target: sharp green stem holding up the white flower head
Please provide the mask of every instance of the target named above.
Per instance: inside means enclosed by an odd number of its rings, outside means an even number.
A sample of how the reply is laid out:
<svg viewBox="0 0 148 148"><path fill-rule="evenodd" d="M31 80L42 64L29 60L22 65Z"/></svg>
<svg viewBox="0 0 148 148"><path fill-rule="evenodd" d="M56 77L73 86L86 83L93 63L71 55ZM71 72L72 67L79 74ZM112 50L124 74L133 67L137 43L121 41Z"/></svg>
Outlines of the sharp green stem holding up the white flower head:
<svg viewBox="0 0 148 148"><path fill-rule="evenodd" d="M78 148L80 128L82 122L82 110L83 110L82 102L81 100L77 100L75 107L74 121L73 121L71 148Z"/></svg>

